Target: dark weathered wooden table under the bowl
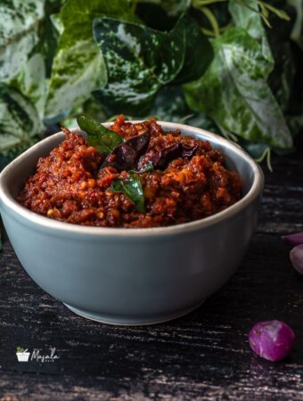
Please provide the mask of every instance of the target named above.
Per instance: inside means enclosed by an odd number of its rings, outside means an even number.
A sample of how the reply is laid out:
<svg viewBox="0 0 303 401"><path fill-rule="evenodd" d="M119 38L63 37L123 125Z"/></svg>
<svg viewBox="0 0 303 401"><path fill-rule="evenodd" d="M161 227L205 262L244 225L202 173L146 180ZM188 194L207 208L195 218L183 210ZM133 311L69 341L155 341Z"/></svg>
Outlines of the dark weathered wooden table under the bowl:
<svg viewBox="0 0 303 401"><path fill-rule="evenodd" d="M0 400L303 400L303 276L281 235L303 230L303 151L274 158L258 232L239 270L190 315L113 327L73 315L29 279L10 242L0 254ZM237 241L235 238L234 241ZM250 326L289 323L291 356L250 351ZM20 363L16 347L59 359Z"/></svg>

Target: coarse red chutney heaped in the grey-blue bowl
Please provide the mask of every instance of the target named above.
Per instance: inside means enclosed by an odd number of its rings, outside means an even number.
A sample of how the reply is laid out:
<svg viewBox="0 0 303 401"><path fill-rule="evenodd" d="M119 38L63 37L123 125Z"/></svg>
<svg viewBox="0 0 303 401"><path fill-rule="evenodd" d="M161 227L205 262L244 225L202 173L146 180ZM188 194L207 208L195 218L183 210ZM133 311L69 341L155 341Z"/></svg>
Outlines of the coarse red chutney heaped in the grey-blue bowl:
<svg viewBox="0 0 303 401"><path fill-rule="evenodd" d="M148 131L151 140L140 160L176 143L197 146L192 158L172 160L164 171L138 173L146 213L139 213L123 193L111 191L111 181L127 177L115 168L100 168L104 159L93 146L68 129L66 139L45 158L20 191L17 201L46 217L78 225L102 227L157 227L208 217L241 199L242 179L224 167L222 152L209 142L180 131L163 131L155 119L125 122L123 116L111 130L127 140Z"/></svg>

